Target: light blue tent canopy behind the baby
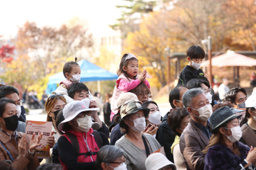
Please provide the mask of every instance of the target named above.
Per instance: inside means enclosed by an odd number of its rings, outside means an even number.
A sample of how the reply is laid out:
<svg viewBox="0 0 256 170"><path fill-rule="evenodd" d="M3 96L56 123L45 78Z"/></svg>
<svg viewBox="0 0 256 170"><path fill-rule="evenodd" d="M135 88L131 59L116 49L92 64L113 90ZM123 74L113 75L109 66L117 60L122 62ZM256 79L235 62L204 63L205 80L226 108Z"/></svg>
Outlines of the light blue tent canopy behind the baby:
<svg viewBox="0 0 256 170"><path fill-rule="evenodd" d="M91 82L91 81L100 81L100 80L116 80L118 78L117 74L113 74L108 70L102 69L94 63L90 63L86 60L81 60L78 62L81 69L81 80L80 82ZM48 82L48 91L56 90L56 84L61 82L62 80L66 80L63 75L63 72L59 72L51 77L49 77ZM54 87L53 87L54 86Z"/></svg>

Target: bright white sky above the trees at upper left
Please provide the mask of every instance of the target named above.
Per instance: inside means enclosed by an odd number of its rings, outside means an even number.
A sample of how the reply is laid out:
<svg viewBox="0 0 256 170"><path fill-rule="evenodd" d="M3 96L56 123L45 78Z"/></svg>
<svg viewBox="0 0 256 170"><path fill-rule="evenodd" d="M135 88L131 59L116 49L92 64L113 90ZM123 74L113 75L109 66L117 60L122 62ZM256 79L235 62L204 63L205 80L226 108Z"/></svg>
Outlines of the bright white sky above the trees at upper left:
<svg viewBox="0 0 256 170"><path fill-rule="evenodd" d="M26 20L37 26L60 26L73 17L87 20L94 34L102 27L116 23L120 12L116 4L121 0L7 0L1 1L0 35L12 37Z"/></svg>

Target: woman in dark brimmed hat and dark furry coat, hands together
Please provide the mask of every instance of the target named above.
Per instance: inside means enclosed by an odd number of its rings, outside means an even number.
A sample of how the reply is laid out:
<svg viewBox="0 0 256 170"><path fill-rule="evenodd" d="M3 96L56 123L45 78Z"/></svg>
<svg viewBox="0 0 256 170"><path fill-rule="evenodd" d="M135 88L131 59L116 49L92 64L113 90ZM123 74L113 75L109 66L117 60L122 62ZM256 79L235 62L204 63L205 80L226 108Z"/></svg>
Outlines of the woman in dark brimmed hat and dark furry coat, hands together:
<svg viewBox="0 0 256 170"><path fill-rule="evenodd" d="M242 136L238 117L228 107L217 109L210 117L211 139L202 152L205 155L206 170L253 169L256 165L256 148L251 149L238 140Z"/></svg>

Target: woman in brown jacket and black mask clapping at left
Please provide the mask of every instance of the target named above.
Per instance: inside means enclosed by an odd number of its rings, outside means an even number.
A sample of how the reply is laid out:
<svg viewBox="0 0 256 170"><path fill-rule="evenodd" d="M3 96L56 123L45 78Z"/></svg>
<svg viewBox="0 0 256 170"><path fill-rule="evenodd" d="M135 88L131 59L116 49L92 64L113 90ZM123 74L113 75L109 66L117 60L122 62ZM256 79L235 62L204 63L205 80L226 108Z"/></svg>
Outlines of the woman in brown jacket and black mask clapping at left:
<svg viewBox="0 0 256 170"><path fill-rule="evenodd" d="M17 170L37 169L39 161L36 147L42 143L42 133L31 139L22 132L15 131L18 126L18 110L9 98L0 99L0 161L6 161ZM2 169L2 167L0 167Z"/></svg>

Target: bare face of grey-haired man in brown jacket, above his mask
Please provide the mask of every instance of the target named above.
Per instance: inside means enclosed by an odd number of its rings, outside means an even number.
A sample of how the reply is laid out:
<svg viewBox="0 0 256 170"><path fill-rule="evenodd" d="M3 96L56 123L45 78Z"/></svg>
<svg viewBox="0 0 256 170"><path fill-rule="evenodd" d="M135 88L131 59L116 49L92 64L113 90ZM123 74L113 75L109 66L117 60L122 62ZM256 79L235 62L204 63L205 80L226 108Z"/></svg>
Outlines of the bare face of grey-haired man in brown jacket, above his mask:
<svg viewBox="0 0 256 170"><path fill-rule="evenodd" d="M204 107L204 106L206 106L206 104L210 104L210 102L208 101L206 96L204 94L199 94L199 95L195 96L195 98L192 99L192 106L188 107L188 111L189 111L189 113L192 113L193 115L198 117L199 112L195 109Z"/></svg>

